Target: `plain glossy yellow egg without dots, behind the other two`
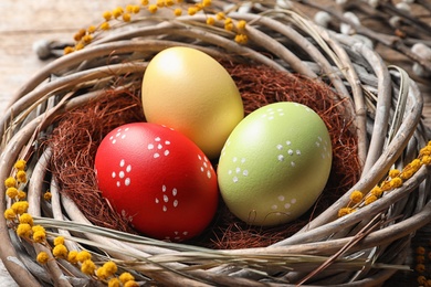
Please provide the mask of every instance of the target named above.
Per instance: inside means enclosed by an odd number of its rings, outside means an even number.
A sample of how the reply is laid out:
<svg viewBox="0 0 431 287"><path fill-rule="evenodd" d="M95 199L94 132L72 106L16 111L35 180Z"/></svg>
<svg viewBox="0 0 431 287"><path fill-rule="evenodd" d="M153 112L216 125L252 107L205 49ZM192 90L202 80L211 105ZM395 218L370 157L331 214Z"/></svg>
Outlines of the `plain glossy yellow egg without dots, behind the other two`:
<svg viewBox="0 0 431 287"><path fill-rule="evenodd" d="M224 67L190 47L169 47L148 64L143 79L144 114L149 123L190 138L210 159L244 117L241 95Z"/></svg>

